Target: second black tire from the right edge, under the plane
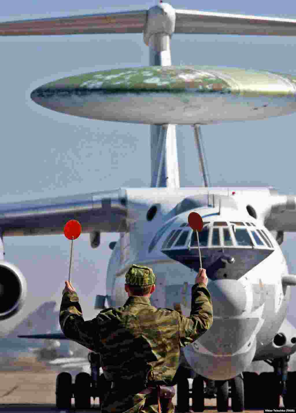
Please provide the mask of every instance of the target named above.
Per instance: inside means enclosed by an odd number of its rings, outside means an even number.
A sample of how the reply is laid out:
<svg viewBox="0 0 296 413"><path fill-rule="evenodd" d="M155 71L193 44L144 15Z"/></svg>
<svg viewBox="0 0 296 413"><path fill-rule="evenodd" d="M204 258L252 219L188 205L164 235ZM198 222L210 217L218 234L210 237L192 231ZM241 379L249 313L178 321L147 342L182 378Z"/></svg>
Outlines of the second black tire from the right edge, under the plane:
<svg viewBox="0 0 296 413"><path fill-rule="evenodd" d="M280 406L280 383L275 373L263 372L259 375L261 408L277 409Z"/></svg>

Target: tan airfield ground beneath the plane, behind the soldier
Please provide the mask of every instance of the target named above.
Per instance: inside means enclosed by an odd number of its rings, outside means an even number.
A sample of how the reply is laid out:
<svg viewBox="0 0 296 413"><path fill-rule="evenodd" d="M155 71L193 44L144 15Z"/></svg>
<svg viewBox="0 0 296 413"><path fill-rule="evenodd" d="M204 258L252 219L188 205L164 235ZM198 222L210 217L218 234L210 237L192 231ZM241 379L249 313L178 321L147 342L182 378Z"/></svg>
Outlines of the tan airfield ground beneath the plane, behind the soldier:
<svg viewBox="0 0 296 413"><path fill-rule="evenodd" d="M1 367L0 413L62 412L61 409L55 408L56 371L49 370L43 362L32 363L32 360L26 357L14 360L9 363L9 366ZM205 403L206 412L217 411L214 399L206 399ZM174 404L176 405L176 397ZM282 401L281 406L283 406ZM82 412L83 410L75 410L73 405L73 412L75 411ZM91 411L99 411L98 399ZM252 412L256 411L259 412L259 410Z"/></svg>

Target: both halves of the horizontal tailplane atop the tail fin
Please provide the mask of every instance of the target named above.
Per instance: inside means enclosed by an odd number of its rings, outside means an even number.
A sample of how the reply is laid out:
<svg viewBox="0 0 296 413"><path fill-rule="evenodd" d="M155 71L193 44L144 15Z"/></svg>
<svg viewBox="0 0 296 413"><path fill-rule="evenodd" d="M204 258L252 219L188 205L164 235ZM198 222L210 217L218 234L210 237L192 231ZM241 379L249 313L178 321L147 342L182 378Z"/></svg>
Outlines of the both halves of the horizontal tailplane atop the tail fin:
<svg viewBox="0 0 296 413"><path fill-rule="evenodd" d="M175 33L295 36L296 20L176 9ZM141 33L148 10L7 21L1 36Z"/></svg>

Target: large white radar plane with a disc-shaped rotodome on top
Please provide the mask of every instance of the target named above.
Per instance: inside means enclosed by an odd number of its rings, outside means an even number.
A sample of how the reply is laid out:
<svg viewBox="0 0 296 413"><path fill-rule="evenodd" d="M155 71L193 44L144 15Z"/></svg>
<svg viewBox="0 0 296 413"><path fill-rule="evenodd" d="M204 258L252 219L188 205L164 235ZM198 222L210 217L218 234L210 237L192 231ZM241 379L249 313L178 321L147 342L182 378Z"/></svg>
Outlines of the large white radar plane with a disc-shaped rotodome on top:
<svg viewBox="0 0 296 413"><path fill-rule="evenodd" d="M157 274L152 303L188 314L192 271L198 270L199 255L187 220L191 211L197 211L204 221L200 243L214 323L182 352L176 374L179 410L188 411L187 378L192 372L195 411L203 410L204 396L214 395L218 410L227 411L228 385L233 411L252 403L258 406L258 400L264 407L277 407L280 394L285 406L294 407L294 373L286 379L289 355L296 350L296 330L285 317L296 276L289 275L279 245L285 231L296 231L296 198L270 188L212 188L200 125L295 112L296 76L174 67L170 39L174 32L294 36L296 20L176 10L160 3L136 12L0 24L4 36L139 32L150 48L150 66L60 79L34 90L31 97L44 107L76 116L151 123L151 188L2 204L2 236L59 234L72 218L90 233L92 247L99 245L101 232L118 232L120 240L110 244L107 296L97 296L96 308L122 305L127 298L125 272L132 263L141 263ZM194 125L205 188L180 188L176 123ZM10 280L13 277L6 282ZM271 363L275 374L260 376L261 383L252 373L243 379L242 372L253 360ZM73 395L77 407L87 407L90 396L100 393L98 356L92 354L90 362L92 377L78 375L76 387L66 372L58 376L59 407L68 407ZM259 398L254 395L258 389Z"/></svg>

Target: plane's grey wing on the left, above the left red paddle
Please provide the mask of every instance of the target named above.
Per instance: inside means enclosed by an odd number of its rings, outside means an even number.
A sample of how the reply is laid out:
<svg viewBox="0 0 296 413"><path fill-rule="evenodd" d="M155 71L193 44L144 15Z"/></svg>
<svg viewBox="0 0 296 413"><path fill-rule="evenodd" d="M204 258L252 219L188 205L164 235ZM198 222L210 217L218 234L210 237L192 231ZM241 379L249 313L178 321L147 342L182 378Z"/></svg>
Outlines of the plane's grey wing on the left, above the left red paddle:
<svg viewBox="0 0 296 413"><path fill-rule="evenodd" d="M82 232L125 232L126 190L111 190L0 204L0 229L6 235L63 233L69 219L77 219Z"/></svg>

